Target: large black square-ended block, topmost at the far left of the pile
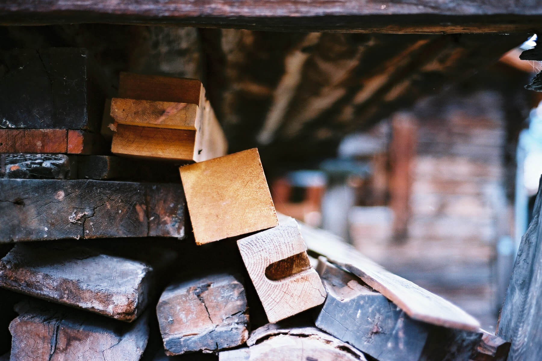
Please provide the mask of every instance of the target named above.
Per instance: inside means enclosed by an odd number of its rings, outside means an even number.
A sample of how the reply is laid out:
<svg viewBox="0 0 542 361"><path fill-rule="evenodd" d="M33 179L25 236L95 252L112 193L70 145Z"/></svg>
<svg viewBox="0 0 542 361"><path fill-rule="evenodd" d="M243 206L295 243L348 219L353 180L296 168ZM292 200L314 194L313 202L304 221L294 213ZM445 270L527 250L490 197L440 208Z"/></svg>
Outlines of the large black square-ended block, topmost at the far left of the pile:
<svg viewBox="0 0 542 361"><path fill-rule="evenodd" d="M100 93L85 49L0 52L2 128L98 130Z"/></svg>

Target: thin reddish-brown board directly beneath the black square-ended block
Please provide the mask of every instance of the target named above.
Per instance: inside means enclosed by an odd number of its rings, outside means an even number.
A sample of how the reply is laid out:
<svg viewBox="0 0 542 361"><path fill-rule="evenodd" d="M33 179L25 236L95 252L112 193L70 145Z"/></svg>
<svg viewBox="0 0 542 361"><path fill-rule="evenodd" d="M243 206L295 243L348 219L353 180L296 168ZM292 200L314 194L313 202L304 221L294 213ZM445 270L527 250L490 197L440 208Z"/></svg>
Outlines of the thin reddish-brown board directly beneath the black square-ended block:
<svg viewBox="0 0 542 361"><path fill-rule="evenodd" d="M0 153L66 153L64 129L0 129Z"/></svg>

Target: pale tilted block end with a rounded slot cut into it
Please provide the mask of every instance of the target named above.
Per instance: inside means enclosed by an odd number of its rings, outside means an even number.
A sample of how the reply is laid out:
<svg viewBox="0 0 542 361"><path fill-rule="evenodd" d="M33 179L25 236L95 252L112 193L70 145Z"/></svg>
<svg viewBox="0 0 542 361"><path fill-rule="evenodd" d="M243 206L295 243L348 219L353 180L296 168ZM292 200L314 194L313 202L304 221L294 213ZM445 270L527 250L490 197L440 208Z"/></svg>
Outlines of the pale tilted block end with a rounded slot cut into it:
<svg viewBox="0 0 542 361"><path fill-rule="evenodd" d="M324 286L295 220L240 239L237 246L269 322L324 303Z"/></svg>

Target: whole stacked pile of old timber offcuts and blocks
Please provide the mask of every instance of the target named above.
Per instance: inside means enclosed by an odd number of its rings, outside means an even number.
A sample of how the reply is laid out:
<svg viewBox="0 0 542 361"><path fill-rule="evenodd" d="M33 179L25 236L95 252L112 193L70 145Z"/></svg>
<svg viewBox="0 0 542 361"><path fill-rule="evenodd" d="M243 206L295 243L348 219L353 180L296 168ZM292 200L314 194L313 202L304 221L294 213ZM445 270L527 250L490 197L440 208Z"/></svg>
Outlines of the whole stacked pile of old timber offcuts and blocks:
<svg viewBox="0 0 542 361"><path fill-rule="evenodd" d="M84 50L2 58L3 359L506 359L459 307L277 215L201 82L121 74L100 126Z"/></svg>

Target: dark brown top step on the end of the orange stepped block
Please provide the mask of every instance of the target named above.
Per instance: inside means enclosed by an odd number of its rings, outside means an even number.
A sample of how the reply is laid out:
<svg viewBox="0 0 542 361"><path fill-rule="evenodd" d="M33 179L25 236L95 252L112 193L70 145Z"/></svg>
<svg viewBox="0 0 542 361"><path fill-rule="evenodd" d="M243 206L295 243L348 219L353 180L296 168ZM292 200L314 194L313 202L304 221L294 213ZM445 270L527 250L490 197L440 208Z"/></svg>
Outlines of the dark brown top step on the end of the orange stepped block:
<svg viewBox="0 0 542 361"><path fill-rule="evenodd" d="M201 104L205 89L197 79L141 75L121 71L119 98Z"/></svg>

